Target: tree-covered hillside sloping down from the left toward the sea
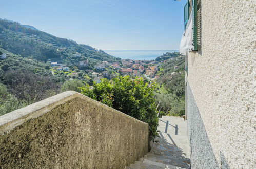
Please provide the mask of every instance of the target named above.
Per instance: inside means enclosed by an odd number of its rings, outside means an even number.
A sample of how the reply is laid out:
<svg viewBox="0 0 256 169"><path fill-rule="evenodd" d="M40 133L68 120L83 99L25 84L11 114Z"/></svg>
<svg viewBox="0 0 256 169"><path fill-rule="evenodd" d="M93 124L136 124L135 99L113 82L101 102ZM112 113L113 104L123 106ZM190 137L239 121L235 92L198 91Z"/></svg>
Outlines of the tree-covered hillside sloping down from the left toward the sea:
<svg viewBox="0 0 256 169"><path fill-rule="evenodd" d="M89 59L94 64L100 61L120 61L120 58L102 50L31 28L34 27L0 19L0 47L22 57L39 61L62 59L69 64L76 64L85 59Z"/></svg>

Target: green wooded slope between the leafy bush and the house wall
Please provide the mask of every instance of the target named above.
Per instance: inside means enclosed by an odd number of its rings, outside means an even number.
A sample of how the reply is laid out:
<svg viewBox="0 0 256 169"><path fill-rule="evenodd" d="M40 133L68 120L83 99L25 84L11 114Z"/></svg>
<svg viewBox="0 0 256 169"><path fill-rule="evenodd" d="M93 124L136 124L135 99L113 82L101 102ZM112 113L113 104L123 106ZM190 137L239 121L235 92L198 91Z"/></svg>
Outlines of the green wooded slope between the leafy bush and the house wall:
<svg viewBox="0 0 256 169"><path fill-rule="evenodd" d="M160 101L160 109L164 114L182 116L185 114L185 57L178 54L165 54L157 58L162 60L169 57L160 67L159 92L155 93L155 99ZM172 59L170 59L172 58Z"/></svg>

